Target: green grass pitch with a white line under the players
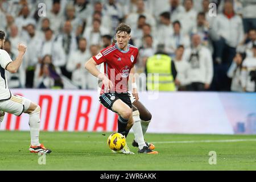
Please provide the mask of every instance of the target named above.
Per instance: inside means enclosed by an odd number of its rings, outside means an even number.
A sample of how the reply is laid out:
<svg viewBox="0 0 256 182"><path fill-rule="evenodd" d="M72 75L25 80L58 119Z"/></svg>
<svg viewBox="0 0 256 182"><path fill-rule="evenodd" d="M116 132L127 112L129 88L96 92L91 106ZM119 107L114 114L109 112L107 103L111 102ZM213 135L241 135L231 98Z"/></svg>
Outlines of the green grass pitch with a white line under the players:
<svg viewBox="0 0 256 182"><path fill-rule="evenodd" d="M40 142L51 148L46 165L30 154L29 132L0 132L2 170L256 170L255 135L146 134L155 142L158 155L113 154L106 144L110 133L41 132ZM217 164L209 164L209 151L216 151Z"/></svg>

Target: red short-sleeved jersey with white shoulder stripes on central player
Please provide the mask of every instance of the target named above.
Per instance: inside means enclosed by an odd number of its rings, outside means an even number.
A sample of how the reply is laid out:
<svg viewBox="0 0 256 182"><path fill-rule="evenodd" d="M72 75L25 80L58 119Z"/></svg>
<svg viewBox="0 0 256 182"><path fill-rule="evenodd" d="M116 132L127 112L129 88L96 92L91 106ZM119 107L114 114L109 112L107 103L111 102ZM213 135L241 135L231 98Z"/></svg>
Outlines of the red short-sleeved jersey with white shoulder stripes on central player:
<svg viewBox="0 0 256 182"><path fill-rule="evenodd" d="M97 64L104 63L104 74L113 82L111 92L126 93L129 73L137 62L138 48L128 44L127 50L119 49L117 44L103 49L97 56L93 56ZM104 85L101 94L104 93Z"/></svg>

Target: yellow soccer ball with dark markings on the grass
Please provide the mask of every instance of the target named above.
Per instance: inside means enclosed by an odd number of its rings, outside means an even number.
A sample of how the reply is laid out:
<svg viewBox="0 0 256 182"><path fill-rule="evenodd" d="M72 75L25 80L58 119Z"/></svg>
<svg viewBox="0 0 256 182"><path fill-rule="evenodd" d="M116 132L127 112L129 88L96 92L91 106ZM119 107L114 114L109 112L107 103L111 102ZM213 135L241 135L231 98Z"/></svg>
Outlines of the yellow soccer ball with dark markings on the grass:
<svg viewBox="0 0 256 182"><path fill-rule="evenodd" d="M120 133L113 133L109 136L107 143L111 150L118 151L125 147L126 139Z"/></svg>

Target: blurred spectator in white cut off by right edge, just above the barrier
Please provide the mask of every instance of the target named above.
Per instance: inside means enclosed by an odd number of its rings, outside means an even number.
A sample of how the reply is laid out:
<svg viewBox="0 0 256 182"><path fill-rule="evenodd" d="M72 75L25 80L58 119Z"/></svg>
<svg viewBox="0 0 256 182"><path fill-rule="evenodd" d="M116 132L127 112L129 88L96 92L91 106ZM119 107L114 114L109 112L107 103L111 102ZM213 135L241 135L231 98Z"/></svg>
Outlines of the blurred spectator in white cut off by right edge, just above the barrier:
<svg viewBox="0 0 256 182"><path fill-rule="evenodd" d="M245 92L256 92L256 45L253 45L253 57L247 57L242 63L242 88Z"/></svg>

